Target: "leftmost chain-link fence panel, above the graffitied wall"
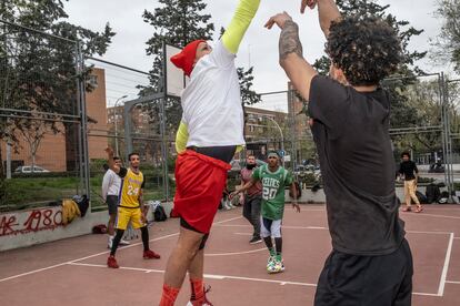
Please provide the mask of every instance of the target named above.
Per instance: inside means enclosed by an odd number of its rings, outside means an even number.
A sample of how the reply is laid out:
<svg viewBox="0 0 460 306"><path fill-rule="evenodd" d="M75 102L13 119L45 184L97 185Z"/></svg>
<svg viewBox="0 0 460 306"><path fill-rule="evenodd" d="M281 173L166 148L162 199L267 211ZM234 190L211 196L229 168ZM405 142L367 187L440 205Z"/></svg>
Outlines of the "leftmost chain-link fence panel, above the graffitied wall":
<svg viewBox="0 0 460 306"><path fill-rule="evenodd" d="M0 21L0 211L86 193L81 75L78 42Z"/></svg>

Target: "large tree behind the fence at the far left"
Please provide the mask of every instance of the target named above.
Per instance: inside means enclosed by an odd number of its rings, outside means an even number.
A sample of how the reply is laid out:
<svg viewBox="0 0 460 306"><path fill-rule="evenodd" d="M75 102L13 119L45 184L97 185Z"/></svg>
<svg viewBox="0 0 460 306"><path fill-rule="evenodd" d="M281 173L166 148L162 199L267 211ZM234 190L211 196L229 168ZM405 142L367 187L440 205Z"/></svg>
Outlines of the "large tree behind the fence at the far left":
<svg viewBox="0 0 460 306"><path fill-rule="evenodd" d="M77 81L91 71L87 69L83 74L78 73L77 45L72 41L80 41L86 57L102 55L114 33L108 23L102 32L94 32L67 22L67 18L62 0L1 1L1 20L33 30L0 23L0 99L2 105L7 105L4 109L22 111L8 112L8 122L1 116L0 141L14 143L18 142L18 133L27 133L29 129L33 131L36 128L28 120L43 120L52 130L60 115L78 114ZM72 130L70 126L66 125L66 133ZM4 178L2 165L1 162L0 177Z"/></svg>

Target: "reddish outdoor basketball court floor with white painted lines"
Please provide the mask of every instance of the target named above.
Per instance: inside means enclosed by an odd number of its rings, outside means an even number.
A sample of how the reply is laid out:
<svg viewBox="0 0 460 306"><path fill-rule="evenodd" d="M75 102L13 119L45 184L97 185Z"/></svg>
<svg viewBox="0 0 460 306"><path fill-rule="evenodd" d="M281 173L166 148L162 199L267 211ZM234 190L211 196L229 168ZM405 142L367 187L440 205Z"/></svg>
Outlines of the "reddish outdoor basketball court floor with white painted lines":
<svg viewBox="0 0 460 306"><path fill-rule="evenodd" d="M214 305L312 305L322 264L331 249L323 205L287 206L286 272L266 272L263 244L249 245L251 226L241 210L219 212L206 249L208 298ZM460 206L426 205L401 213L414 259L412 305L460 305ZM142 259L133 241L117 253L120 269L106 267L106 235L87 235L0 254L0 305L157 305L178 221L150 228L159 261ZM186 279L177 305L186 305Z"/></svg>

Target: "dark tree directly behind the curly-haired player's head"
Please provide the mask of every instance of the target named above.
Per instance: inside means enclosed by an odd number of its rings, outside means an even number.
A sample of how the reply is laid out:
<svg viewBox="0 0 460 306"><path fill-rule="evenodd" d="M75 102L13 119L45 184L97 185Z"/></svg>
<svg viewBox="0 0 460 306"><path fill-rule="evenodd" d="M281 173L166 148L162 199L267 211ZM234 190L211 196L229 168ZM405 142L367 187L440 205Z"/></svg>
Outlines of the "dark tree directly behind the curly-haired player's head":
<svg viewBox="0 0 460 306"><path fill-rule="evenodd" d="M404 96L404 89L408 84L416 81L416 75L424 74L424 72L417 67L416 63L418 60L423 59L427 55L427 52L410 51L408 49L412 37L420 35L423 30L418 30L411 27L406 20L398 20L393 14L387 12L390 7L389 4L380 6L373 0L337 0L337 6L343 16L359 16L362 18L367 16L377 16L382 18L398 33L401 40L404 60L394 75L403 75L404 79L384 82L384 86L388 89L392 99L391 126L403 128L417 125L419 122L419 118L417 118L417 109L408 104L408 100ZM313 67L322 74L327 74L329 72L329 65L330 60L327 57L322 57L313 64Z"/></svg>

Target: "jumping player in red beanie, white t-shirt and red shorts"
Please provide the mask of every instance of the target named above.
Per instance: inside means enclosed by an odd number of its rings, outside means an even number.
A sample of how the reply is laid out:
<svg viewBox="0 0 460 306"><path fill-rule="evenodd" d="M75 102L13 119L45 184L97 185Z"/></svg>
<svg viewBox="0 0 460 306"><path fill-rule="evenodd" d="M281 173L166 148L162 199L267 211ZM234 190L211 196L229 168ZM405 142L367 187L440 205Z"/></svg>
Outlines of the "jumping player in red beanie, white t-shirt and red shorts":
<svg viewBox="0 0 460 306"><path fill-rule="evenodd" d="M164 273L161 306L174 304L187 272L191 284L189 305L211 305L203 289L203 248L229 162L237 147L244 144L234 58L259 3L240 0L213 50L206 41L197 40L171 58L190 82L181 96L183 115L177 135L174 211L180 215L181 228Z"/></svg>

